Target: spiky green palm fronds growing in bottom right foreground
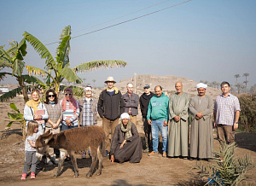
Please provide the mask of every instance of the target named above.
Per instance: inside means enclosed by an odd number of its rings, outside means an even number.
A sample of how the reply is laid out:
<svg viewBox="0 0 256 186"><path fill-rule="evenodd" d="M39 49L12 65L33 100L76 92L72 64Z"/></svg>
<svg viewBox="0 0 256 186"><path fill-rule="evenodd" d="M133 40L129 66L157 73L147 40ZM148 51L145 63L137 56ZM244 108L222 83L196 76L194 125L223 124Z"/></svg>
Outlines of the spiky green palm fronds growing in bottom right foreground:
<svg viewBox="0 0 256 186"><path fill-rule="evenodd" d="M207 166L200 161L192 169L202 177L210 177L207 184L210 185L238 185L245 178L246 172L253 168L253 160L246 154L244 157L235 157L235 143L220 145L220 152ZM220 160L222 157L223 160Z"/></svg>

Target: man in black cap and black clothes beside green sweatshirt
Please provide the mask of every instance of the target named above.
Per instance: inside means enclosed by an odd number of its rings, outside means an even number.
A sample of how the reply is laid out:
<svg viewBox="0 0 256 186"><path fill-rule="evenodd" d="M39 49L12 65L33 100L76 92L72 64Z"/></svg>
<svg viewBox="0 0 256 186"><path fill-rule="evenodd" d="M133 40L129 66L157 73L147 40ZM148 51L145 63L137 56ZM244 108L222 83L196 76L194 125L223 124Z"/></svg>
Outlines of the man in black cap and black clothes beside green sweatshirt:
<svg viewBox="0 0 256 186"><path fill-rule="evenodd" d="M148 104L151 99L151 97L154 96L154 93L150 91L150 86L148 84L144 85L144 93L142 96L140 96L140 107L141 112L143 115L143 127L145 132L145 142L146 142L146 148L144 149L144 153L148 153L149 148L152 148L152 141L151 141L151 126L148 125L147 120L147 113L148 113Z"/></svg>

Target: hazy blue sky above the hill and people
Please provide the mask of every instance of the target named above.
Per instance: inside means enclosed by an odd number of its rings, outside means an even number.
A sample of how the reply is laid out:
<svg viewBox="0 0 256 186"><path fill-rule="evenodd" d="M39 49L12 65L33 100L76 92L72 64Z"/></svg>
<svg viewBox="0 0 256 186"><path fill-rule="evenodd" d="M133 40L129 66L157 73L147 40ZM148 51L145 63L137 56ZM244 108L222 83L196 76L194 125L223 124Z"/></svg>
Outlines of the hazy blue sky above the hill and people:
<svg viewBox="0 0 256 186"><path fill-rule="evenodd" d="M68 25L74 37L183 1L161 2L164 0L2 0L0 45L6 44L5 49L8 49L9 40L20 42L25 31L49 44L58 41L61 30ZM144 9L156 3L160 4ZM144 10L113 20L139 9ZM241 75L238 81L242 83L245 80L242 74L249 73L251 86L256 84L255 18L255 0L192 0L154 15L73 38L71 67L96 60L127 62L125 68L79 74L90 84L91 79L96 79L96 85L102 85L108 76L119 81L131 78L134 73L176 75L195 81L226 80L235 84L235 74ZM95 26L108 20L113 21ZM54 56L57 45L48 46ZM25 61L26 65L44 67L44 61L29 44ZM12 81L13 78L6 78L1 83Z"/></svg>

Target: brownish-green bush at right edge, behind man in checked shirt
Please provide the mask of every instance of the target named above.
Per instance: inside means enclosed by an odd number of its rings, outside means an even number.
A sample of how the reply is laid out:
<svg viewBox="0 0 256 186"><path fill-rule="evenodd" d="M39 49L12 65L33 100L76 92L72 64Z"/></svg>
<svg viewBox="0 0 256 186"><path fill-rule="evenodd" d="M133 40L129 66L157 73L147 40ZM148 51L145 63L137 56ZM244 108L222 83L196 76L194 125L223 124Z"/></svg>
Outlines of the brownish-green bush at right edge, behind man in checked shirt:
<svg viewBox="0 0 256 186"><path fill-rule="evenodd" d="M238 99L241 107L239 129L256 132L256 93L240 95Z"/></svg>

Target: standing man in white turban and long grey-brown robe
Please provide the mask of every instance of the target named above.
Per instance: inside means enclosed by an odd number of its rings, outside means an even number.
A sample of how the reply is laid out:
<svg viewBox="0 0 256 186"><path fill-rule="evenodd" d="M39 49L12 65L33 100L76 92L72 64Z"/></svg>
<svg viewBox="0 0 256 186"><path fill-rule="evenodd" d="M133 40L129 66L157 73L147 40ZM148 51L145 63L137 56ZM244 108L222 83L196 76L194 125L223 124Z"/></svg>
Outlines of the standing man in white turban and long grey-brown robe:
<svg viewBox="0 0 256 186"><path fill-rule="evenodd" d="M206 95L207 84L196 85L198 95L189 102L191 114L190 158L211 159L213 153L212 110L213 100Z"/></svg>

